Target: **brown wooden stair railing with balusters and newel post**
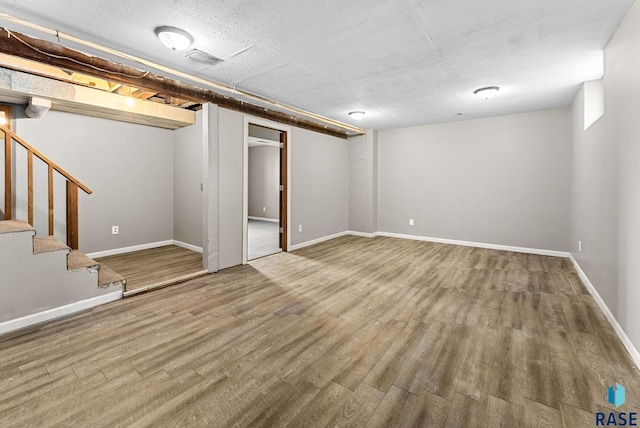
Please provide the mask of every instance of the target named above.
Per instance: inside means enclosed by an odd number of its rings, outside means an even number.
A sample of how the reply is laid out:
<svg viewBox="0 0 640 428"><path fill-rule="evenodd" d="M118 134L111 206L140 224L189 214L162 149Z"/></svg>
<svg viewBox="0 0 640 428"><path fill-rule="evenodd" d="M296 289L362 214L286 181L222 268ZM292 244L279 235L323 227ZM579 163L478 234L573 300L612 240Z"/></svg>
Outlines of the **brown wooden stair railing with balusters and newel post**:
<svg viewBox="0 0 640 428"><path fill-rule="evenodd" d="M12 141L20 144L27 150L27 210L28 222L33 226L33 157L36 156L47 164L48 172L48 198L49 198L49 235L54 234L53 222L53 172L56 171L67 181L67 245L72 249L78 249L78 188L86 194L93 193L87 186L80 183L71 174L60 168L55 162L34 149L31 145L18 137L6 126L0 125L0 131L4 132L4 218L12 219L13 212L13 144Z"/></svg>

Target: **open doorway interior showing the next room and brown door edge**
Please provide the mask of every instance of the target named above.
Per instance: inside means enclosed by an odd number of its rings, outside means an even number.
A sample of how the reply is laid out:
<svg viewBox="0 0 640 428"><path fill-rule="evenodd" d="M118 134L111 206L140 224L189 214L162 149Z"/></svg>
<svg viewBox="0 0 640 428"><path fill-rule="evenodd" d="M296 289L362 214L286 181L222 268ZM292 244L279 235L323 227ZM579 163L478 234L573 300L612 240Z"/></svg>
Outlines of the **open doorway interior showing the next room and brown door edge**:
<svg viewBox="0 0 640 428"><path fill-rule="evenodd" d="M246 123L243 263L287 251L287 140L286 129Z"/></svg>

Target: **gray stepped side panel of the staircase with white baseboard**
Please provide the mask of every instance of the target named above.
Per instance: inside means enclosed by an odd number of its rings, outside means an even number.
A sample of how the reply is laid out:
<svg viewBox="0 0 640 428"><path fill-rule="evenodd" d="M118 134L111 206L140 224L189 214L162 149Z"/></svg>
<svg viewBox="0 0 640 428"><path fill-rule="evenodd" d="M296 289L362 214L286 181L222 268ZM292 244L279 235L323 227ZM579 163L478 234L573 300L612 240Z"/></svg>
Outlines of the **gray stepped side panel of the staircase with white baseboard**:
<svg viewBox="0 0 640 428"><path fill-rule="evenodd" d="M67 249L34 254L34 236L0 233L0 334L122 297L98 287L97 269L67 270Z"/></svg>

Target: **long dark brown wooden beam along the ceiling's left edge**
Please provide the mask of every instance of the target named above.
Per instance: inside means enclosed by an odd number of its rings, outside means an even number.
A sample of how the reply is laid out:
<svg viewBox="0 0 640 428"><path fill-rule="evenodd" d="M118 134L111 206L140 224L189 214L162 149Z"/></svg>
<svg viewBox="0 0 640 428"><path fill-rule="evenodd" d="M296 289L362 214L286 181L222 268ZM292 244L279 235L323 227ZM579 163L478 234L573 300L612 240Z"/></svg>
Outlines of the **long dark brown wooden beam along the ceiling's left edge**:
<svg viewBox="0 0 640 428"><path fill-rule="evenodd" d="M15 31L8 31L5 28L0 29L0 52L125 85L142 87L186 101L198 103L210 102L223 108L273 120L286 125L296 126L334 137L349 138L349 134L342 129L260 107L208 89L199 88L124 64L86 55L46 40L35 39Z"/></svg>

